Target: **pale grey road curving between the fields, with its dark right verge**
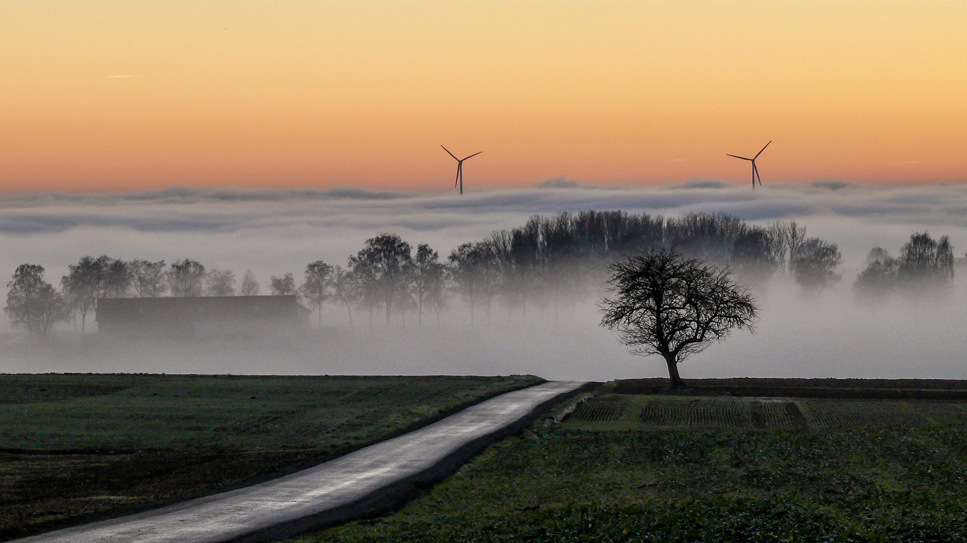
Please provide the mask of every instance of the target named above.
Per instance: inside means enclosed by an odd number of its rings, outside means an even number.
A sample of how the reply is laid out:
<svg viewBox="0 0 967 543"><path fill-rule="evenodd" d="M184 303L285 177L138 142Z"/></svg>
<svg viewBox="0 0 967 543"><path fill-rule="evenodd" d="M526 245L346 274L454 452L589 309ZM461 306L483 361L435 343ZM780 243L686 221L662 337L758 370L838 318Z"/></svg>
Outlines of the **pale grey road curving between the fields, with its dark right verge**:
<svg viewBox="0 0 967 543"><path fill-rule="evenodd" d="M302 472L15 543L241 543L359 517L399 504L414 485L453 471L529 414L583 385L552 381L508 392Z"/></svg>

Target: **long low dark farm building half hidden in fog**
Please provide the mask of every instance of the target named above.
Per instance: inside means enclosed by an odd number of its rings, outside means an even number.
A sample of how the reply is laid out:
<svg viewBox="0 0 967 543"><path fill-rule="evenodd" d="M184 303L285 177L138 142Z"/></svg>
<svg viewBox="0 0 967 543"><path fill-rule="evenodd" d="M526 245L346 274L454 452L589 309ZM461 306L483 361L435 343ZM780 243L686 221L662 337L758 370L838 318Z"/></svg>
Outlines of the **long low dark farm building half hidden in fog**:
<svg viewBox="0 0 967 543"><path fill-rule="evenodd" d="M181 338L286 334L311 313L295 296L104 298L96 311L106 335Z"/></svg>

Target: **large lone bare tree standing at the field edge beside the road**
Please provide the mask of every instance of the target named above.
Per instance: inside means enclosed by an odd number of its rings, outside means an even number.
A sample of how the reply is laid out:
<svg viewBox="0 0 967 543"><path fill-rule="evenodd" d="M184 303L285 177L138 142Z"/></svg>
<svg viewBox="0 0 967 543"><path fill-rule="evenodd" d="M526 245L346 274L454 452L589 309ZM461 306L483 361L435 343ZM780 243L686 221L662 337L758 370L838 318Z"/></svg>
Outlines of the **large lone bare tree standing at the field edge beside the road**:
<svg viewBox="0 0 967 543"><path fill-rule="evenodd" d="M685 386L679 362L721 341L732 329L752 330L755 300L729 277L666 250L612 264L601 326L617 330L635 355L660 355L672 387Z"/></svg>

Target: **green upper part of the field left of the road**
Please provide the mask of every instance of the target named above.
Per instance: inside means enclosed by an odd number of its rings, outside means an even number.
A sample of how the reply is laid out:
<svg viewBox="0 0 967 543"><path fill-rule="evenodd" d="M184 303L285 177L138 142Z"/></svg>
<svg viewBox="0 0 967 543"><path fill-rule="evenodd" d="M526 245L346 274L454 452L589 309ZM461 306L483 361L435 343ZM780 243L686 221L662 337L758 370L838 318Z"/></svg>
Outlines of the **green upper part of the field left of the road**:
<svg viewBox="0 0 967 543"><path fill-rule="evenodd" d="M0 376L0 448L337 449L531 377ZM36 401L40 389L52 401ZM62 397L63 390L77 390ZM95 395L102 390L106 393ZM15 392L29 403L17 403ZM43 393L43 392L41 392Z"/></svg>

